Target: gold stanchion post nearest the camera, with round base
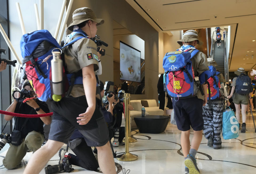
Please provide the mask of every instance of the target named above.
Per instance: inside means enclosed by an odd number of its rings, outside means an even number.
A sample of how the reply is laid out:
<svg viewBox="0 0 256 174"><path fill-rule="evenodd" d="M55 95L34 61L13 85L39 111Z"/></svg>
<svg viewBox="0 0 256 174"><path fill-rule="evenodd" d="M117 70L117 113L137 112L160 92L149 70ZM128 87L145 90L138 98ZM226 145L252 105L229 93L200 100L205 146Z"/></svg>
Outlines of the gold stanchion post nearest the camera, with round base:
<svg viewBox="0 0 256 174"><path fill-rule="evenodd" d="M130 132L130 115L128 110L128 102L130 98L130 94L125 93L124 94L124 103L125 103L125 153L122 155L119 155L117 157L117 160L119 161L135 161L138 159L138 155L134 155L129 153L129 132Z"/></svg>

